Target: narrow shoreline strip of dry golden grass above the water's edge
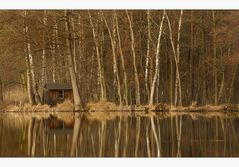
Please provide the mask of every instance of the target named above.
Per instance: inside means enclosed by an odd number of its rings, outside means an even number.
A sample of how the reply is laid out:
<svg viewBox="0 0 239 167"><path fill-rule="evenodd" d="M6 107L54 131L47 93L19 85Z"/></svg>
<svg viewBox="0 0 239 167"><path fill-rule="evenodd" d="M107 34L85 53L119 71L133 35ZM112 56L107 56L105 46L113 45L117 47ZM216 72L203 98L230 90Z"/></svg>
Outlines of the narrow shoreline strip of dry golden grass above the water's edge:
<svg viewBox="0 0 239 167"><path fill-rule="evenodd" d="M96 105L96 106L93 106ZM74 111L73 106L65 109L58 109L57 107L49 107L46 105L28 106L7 106L0 109L0 113L93 113L93 112L239 112L239 105L236 104L221 104L221 105L204 105L204 106L174 106L168 104L155 104L155 105L139 105L139 106L112 106L112 104L100 105L98 103L86 107L83 110ZM9 108L10 109L9 109Z"/></svg>

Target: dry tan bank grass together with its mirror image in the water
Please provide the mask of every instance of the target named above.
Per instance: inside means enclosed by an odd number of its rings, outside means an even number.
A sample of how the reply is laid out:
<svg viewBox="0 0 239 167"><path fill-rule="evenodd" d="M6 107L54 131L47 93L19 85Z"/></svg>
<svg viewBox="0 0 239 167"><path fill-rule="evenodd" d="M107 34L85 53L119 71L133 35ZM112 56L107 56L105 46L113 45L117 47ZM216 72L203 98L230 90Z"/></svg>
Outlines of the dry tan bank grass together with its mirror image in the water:
<svg viewBox="0 0 239 167"><path fill-rule="evenodd" d="M54 113L58 118L66 122L72 122L74 119L74 105L71 101L66 100L58 104L55 108L50 108L48 105L30 105L25 104L0 104L1 110L17 112L17 113L32 113L32 115L39 117L47 117L49 113ZM201 108L201 109L200 109ZM200 110L196 110L200 109ZM205 105L205 106L170 106L167 104L155 105L141 105L141 106L117 106L115 103L108 101L99 101L97 103L88 103L86 110L87 119L107 121L115 119L118 116L138 116L138 117L151 117L156 116L159 118L175 117L180 115L189 115L193 120L199 117L239 117L238 105L223 104L219 106ZM158 112L161 111L161 112ZM41 114L42 113L42 114ZM45 114L44 114L45 113ZM28 114L31 115L31 114Z"/></svg>

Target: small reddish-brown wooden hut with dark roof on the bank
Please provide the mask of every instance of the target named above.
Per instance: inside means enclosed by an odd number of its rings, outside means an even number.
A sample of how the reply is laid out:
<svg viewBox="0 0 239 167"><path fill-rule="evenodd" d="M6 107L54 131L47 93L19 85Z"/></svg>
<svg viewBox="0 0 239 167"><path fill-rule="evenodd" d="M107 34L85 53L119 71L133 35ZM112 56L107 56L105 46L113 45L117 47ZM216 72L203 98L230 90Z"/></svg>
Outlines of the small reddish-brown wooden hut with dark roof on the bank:
<svg viewBox="0 0 239 167"><path fill-rule="evenodd" d="M46 83L44 85L43 103L56 105L66 99L73 101L73 91L71 84L66 83Z"/></svg>

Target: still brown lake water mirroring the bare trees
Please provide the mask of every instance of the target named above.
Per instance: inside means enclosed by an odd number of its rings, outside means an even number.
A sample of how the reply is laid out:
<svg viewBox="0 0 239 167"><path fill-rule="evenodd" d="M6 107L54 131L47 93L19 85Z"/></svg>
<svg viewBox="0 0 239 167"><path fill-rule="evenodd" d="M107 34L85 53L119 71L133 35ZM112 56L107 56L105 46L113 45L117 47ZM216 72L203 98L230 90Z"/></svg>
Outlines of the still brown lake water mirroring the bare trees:
<svg viewBox="0 0 239 167"><path fill-rule="evenodd" d="M0 114L1 157L68 157L72 129L46 131L47 113ZM77 157L238 157L237 113L87 113ZM36 123L29 130L32 118Z"/></svg>

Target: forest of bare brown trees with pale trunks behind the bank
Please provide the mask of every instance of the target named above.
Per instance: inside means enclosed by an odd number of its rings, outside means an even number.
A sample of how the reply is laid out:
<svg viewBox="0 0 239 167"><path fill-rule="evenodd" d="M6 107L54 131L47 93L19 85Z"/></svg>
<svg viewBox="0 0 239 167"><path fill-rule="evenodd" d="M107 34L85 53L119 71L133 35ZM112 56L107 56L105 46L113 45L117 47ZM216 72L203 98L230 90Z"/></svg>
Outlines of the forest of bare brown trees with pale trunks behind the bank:
<svg viewBox="0 0 239 167"><path fill-rule="evenodd" d="M72 83L77 104L238 103L239 11L2 10L0 100Z"/></svg>

